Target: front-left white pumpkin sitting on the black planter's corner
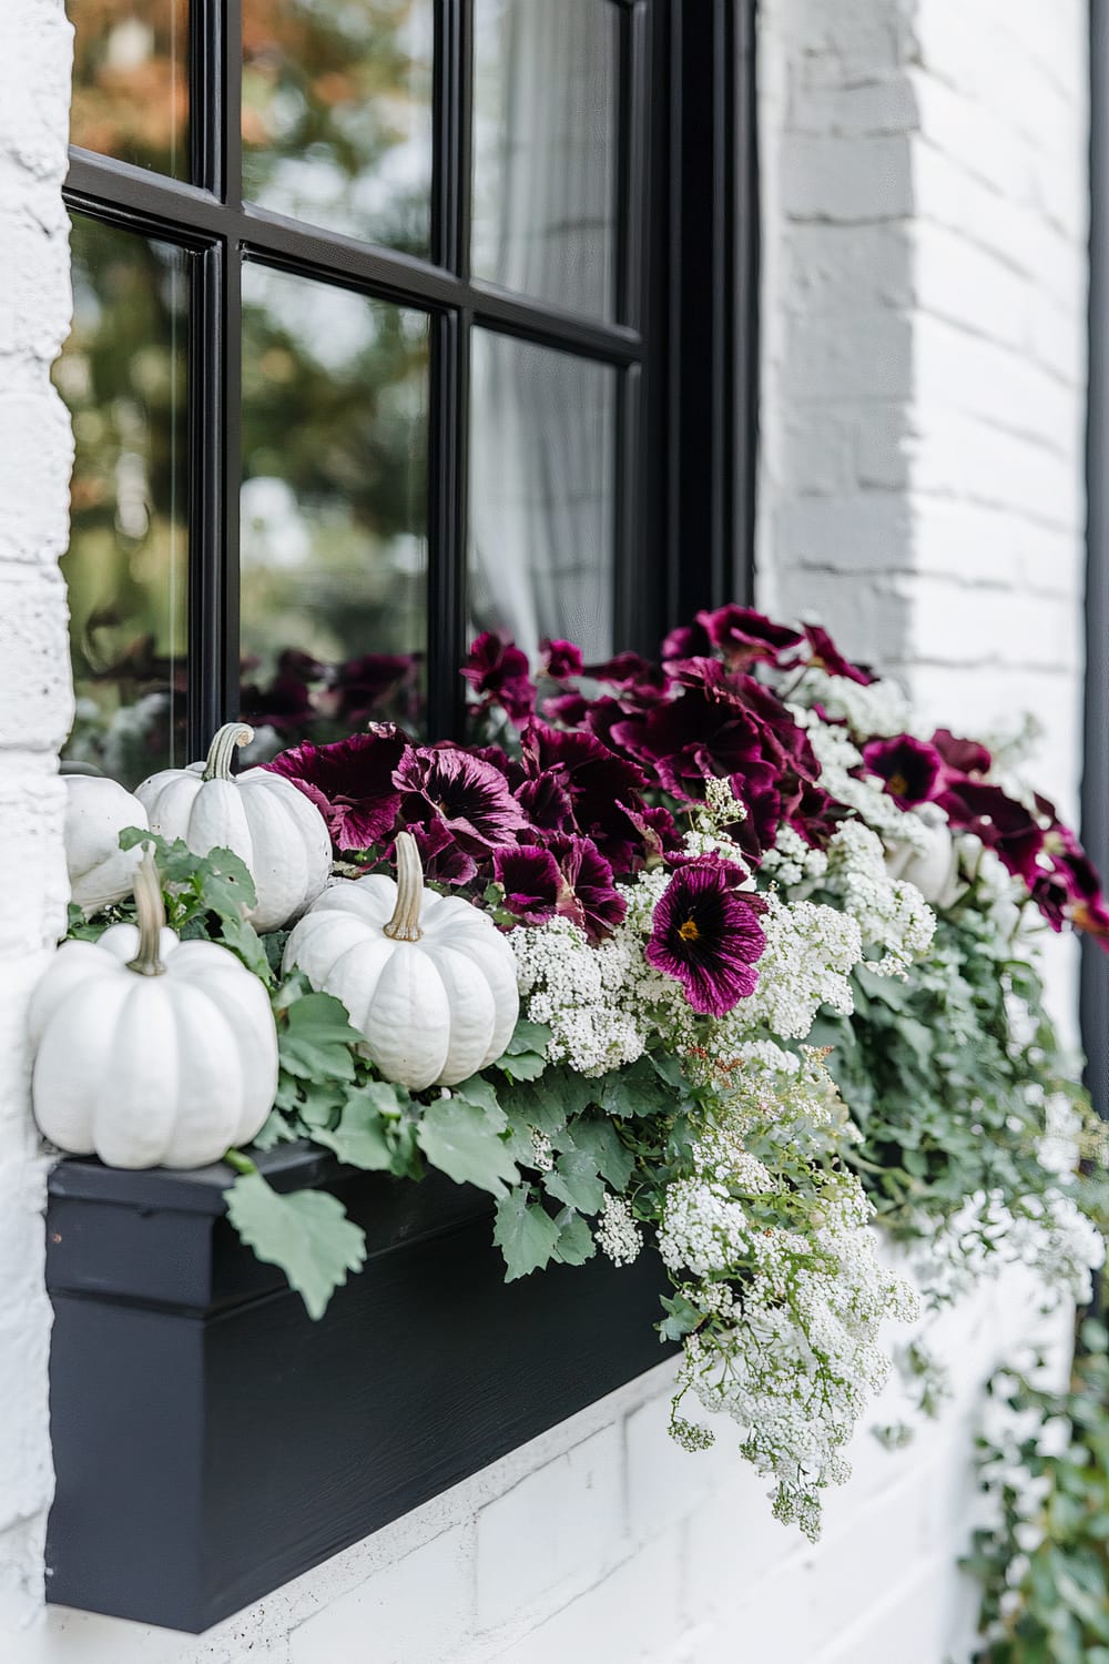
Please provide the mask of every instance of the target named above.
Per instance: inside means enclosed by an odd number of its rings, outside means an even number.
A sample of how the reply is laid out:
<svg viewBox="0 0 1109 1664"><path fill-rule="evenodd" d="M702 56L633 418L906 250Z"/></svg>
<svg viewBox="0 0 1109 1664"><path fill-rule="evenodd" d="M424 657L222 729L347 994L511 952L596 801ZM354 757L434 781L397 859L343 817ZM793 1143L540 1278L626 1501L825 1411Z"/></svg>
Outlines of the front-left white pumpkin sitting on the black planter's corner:
<svg viewBox="0 0 1109 1664"><path fill-rule="evenodd" d="M214 942L165 929L150 855L138 925L63 942L30 1000L35 1120L108 1166L203 1166L259 1132L278 1088L264 987Z"/></svg>

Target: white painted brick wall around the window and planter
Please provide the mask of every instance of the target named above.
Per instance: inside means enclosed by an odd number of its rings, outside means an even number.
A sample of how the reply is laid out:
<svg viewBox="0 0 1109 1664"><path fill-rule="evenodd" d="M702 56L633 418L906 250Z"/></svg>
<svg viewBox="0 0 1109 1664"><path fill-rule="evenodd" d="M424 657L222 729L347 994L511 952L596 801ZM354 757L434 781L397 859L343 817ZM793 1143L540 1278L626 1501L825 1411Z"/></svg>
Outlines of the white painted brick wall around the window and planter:
<svg viewBox="0 0 1109 1664"><path fill-rule="evenodd" d="M763 0L760 582L973 727L1033 702L1076 789L1084 5ZM974 1406L1033 1321L1021 1275L944 1320L956 1399L870 1434L820 1548L722 1429L632 1383L205 1637L53 1609L42 1165L22 1008L63 902L55 752L68 424L63 0L0 5L0 1657L3 1664L966 1664ZM1061 1343L1066 1315L1056 1320ZM896 1396L896 1394L895 1394ZM880 1414L893 1419L891 1399ZM7 1626L7 1636L5 1636Z"/></svg>

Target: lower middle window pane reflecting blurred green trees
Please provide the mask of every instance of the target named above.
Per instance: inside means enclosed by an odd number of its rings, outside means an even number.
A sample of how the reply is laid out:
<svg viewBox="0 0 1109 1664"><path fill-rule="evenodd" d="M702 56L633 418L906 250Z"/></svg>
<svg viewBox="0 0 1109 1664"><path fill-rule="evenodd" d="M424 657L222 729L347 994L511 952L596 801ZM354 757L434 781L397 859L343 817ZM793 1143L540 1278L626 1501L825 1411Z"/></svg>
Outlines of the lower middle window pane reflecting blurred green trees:
<svg viewBox="0 0 1109 1664"><path fill-rule="evenodd" d="M424 313L244 268L241 712L281 744L422 724L427 363Z"/></svg>

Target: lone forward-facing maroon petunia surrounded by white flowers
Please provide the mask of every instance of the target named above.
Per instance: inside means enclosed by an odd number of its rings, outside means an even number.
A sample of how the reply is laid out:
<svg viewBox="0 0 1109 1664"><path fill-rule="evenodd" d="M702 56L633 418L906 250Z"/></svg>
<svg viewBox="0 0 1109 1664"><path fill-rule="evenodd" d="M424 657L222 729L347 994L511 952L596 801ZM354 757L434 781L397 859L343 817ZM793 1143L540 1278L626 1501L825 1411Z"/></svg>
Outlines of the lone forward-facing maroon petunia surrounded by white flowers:
<svg viewBox="0 0 1109 1664"><path fill-rule="evenodd" d="M742 874L712 855L678 867L658 905L645 958L685 988L705 1017L723 1017L755 992L755 960L766 947L758 915L766 904L740 892Z"/></svg>

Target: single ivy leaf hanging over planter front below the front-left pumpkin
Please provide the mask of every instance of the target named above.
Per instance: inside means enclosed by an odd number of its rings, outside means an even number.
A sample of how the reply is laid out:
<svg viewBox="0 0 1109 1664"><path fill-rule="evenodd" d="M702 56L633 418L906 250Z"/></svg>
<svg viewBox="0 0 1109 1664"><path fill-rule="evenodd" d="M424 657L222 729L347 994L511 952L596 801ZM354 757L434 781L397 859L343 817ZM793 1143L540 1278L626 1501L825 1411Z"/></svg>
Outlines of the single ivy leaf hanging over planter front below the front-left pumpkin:
<svg viewBox="0 0 1109 1664"><path fill-rule="evenodd" d="M224 1196L234 1230L259 1260L284 1271L309 1318L323 1318L346 1273L366 1263L366 1233L326 1190L283 1196L261 1173L244 1173Z"/></svg>

